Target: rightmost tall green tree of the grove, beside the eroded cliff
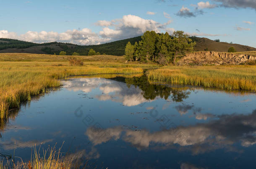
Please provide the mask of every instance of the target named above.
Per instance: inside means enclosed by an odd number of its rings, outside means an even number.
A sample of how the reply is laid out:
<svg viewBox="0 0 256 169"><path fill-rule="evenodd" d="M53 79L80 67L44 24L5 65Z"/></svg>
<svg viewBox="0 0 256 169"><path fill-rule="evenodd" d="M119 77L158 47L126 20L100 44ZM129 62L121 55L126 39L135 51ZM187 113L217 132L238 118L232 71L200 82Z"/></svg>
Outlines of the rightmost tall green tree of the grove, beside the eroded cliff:
<svg viewBox="0 0 256 169"><path fill-rule="evenodd" d="M184 32L180 30L174 31L172 38L172 50L174 51L173 64L175 64L177 55L184 55L186 50L193 50L196 43L192 42L188 34L184 34Z"/></svg>

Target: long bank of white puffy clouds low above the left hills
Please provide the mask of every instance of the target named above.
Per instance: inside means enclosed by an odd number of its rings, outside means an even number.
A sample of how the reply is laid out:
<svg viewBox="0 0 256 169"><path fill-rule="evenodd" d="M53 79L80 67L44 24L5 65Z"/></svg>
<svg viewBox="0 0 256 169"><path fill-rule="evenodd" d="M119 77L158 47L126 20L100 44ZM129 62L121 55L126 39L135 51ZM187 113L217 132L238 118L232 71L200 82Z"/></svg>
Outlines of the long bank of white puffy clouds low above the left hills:
<svg viewBox="0 0 256 169"><path fill-rule="evenodd" d="M140 36L146 30L154 30L157 33L160 33L161 31L164 31L170 23L171 20L167 23L158 23L155 20L143 19L136 15L124 15L121 19L114 19L111 21L99 20L95 23L95 25L102 27L102 30L99 31L99 33L94 33L89 28L67 30L63 33L54 31L28 31L21 35L17 35L14 32L8 32L8 30L0 30L0 38L12 38L36 43L58 41L80 45L92 45Z"/></svg>

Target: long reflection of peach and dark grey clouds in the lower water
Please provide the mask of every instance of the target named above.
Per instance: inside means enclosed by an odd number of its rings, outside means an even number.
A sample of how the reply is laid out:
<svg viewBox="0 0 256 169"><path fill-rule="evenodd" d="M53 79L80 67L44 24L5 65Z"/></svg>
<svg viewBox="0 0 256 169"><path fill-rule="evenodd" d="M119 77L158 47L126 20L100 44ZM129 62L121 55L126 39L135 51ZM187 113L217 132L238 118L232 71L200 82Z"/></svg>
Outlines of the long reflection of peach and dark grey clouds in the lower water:
<svg viewBox="0 0 256 169"><path fill-rule="evenodd" d="M115 126L107 129L90 127L85 134L94 145L122 139L139 149L154 149L156 146L158 149L168 149L177 144L185 147L179 149L190 149L193 154L220 148L237 151L232 147L236 143L243 147L256 144L256 110L249 115L231 114L218 118L206 124L178 126L153 133L145 129L134 130Z"/></svg>

